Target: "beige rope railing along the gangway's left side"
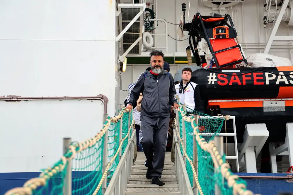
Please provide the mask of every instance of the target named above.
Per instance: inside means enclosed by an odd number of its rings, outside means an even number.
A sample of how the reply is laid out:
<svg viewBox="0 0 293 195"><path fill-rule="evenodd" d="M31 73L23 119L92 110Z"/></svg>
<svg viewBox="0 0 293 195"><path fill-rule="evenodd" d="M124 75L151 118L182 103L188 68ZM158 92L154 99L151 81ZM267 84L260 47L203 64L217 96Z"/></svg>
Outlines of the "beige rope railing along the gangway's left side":
<svg viewBox="0 0 293 195"><path fill-rule="evenodd" d="M36 190L37 188L39 189L40 187L44 187L44 186L48 185L48 182L49 182L50 179L52 179L53 177L56 177L60 172L65 171L65 168L66 168L66 166L68 164L68 161L70 161L73 158L75 158L79 153L83 152L84 150L86 150L88 148L91 148L92 146L94 146L98 142L103 141L103 139L105 139L106 132L109 130L109 126L113 125L113 124L115 125L116 123L120 122L125 113L132 114L130 112L130 110L128 110L125 107L123 107L117 117L108 116L105 119L105 122L103 124L103 128L94 137L91 137L91 138L89 138L89 139L87 139L85 141L82 141L82 142L71 143L71 145L69 146L69 149L67 150L67 152L63 156L61 156L59 161L57 161L57 163L55 163L52 167L49 167L49 168L43 170L40 173L39 177L32 178L32 179L28 180L27 182L25 182L25 184L23 184L23 187L13 188L13 189L7 191L4 195L32 195L32 194L39 194L38 191ZM98 182L98 185L94 188L95 190L93 192L91 192L92 189L89 189L89 191L91 193L87 193L87 194L93 194L93 195L98 194L98 192L100 191L100 188L101 188L105 178L107 177L107 173L108 173L108 171L110 169L110 166L112 165L112 163L115 160L117 160L116 157L118 156L119 153L121 153L120 150L122 150L122 145L124 144L124 141L127 140L129 135L131 134L131 129L133 127L134 120L132 119L132 116L130 116L130 117L127 116L125 118L127 118L127 120L129 118L132 121L130 123L130 126L127 125L127 129L128 129L127 133L124 136L124 138L120 141L119 147L118 147L117 151L115 152L115 155L113 156L111 161L108 162L108 165L107 165L105 171L103 172L103 175L102 175L102 177L100 179L100 182ZM122 125L120 125L120 126L122 126ZM108 137L106 139L108 139ZM103 144L99 144L99 145L103 145ZM96 153L97 152L98 153L103 153L103 151L98 151L97 148L96 148L95 152ZM99 155L101 155L101 154L99 154ZM134 155L135 155L135 152L134 152ZM137 155L137 153L136 153L136 155ZM91 155L91 156L93 156L93 155ZM96 159L96 161L98 161L97 159ZM98 168L95 168L93 170L93 172L96 171L97 169ZM98 171L100 171L100 170L98 170ZM95 179L95 177L94 177L94 179ZM62 185L64 185L64 184L62 183ZM54 191L54 189L52 191ZM77 189L75 192L76 192L76 194L79 194L78 192L80 192L80 191ZM59 192L59 193L57 193L57 192L56 193L51 192L51 193L52 194L62 194L62 191ZM72 194L74 194L74 193L72 193Z"/></svg>

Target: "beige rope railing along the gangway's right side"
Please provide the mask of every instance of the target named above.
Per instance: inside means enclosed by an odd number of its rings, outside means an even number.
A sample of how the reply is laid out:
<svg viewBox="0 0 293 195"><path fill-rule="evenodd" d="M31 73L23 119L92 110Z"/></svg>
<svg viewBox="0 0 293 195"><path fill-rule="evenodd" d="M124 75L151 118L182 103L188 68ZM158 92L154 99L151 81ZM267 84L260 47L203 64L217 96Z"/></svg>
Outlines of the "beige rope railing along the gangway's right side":
<svg viewBox="0 0 293 195"><path fill-rule="evenodd" d="M194 116L187 116L185 114L185 111L183 107L180 105L179 108L177 109L178 112L180 112L182 116L182 122L190 122L192 128L193 128L193 136L195 136L195 140L197 141L197 144L200 146L200 148L208 153L210 153L213 163L214 163L214 168L217 170L215 174L220 173L227 181L227 184L230 188L232 188L232 193L233 195L254 195L252 191L246 189L246 184L243 182L239 181L239 177L237 175L233 175L233 173L230 170L230 166L228 163L223 160L223 157L220 155L219 151L217 150L217 147L215 146L214 140L209 140L208 142L205 141L205 138L201 136L201 133L199 132L198 125L195 122ZM227 116L226 116L227 117ZM225 117L223 117L225 118ZM176 124L176 120L175 120ZM195 166L193 165L193 161L190 160L186 153L186 149L184 148L184 144L182 141L182 138L180 137L180 134L178 132L178 127L177 124L175 125L176 127L176 132L177 135L180 139L181 146L183 148L184 154L186 156L186 159L189 161L192 171L193 171L193 177L195 179L195 183L197 185L197 189L201 195L203 195L202 187L200 186L200 182L198 180L198 175L196 174L196 169ZM195 144L195 143L193 143Z"/></svg>

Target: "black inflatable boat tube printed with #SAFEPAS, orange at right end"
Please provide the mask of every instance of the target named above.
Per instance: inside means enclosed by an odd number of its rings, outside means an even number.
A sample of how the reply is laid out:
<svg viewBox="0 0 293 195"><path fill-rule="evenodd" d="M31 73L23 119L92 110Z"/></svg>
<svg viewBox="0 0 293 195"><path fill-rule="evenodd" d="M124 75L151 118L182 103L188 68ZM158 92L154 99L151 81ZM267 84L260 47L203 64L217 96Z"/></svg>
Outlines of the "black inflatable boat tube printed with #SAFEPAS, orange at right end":
<svg viewBox="0 0 293 195"><path fill-rule="evenodd" d="M197 69L201 99L293 98L293 67Z"/></svg>

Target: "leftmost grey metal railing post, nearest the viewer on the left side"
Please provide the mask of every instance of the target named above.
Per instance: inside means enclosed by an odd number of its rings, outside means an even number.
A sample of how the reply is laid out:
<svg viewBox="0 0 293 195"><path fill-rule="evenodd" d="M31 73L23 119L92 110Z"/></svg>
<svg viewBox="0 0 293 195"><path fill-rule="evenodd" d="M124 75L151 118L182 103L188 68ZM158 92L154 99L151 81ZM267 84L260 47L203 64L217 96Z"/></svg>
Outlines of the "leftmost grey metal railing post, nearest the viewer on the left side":
<svg viewBox="0 0 293 195"><path fill-rule="evenodd" d="M71 138L64 137L63 138L63 154L65 154L68 151L70 144L71 144ZM65 175L64 183L63 183L64 195L71 195L71 189L72 189L71 185L72 185L71 159L67 159L66 175Z"/></svg>

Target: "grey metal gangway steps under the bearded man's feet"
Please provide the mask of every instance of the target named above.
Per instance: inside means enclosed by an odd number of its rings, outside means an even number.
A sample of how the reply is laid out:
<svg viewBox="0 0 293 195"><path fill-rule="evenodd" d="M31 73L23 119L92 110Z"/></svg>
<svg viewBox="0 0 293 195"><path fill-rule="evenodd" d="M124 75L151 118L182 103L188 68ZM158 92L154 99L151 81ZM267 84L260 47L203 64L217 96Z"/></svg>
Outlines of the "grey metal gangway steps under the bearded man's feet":
<svg viewBox="0 0 293 195"><path fill-rule="evenodd" d="M128 179L129 182L126 186L125 195L180 195L175 165L171 162L171 152L166 152L165 155L164 170L160 179L165 183L163 186L152 185L151 180L145 177L147 172L147 167L144 166L145 161L144 153L138 152L137 159L130 172L131 175Z"/></svg>

